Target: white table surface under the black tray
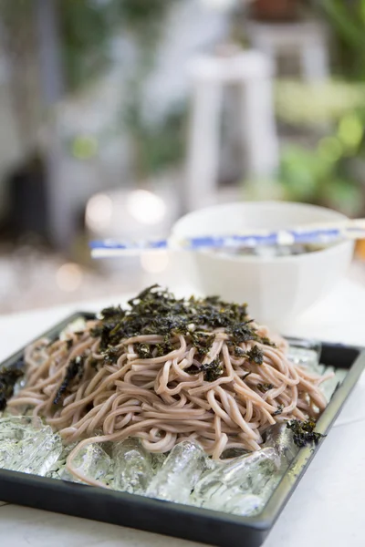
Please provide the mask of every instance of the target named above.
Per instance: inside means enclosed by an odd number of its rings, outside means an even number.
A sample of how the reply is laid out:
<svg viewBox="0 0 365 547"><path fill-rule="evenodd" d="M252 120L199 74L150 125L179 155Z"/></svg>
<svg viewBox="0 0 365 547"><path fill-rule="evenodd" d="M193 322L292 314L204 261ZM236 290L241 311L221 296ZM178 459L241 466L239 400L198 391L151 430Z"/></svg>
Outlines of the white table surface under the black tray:
<svg viewBox="0 0 365 547"><path fill-rule="evenodd" d="M116 297L114 303L124 299ZM0 315L0 359L70 312L96 310L103 304L110 302ZM365 287L344 280L326 300L295 324L287 325L286 334L365 346ZM364 509L365 375L362 375L264 547L363 547ZM0 538L1 545L6 547L200 545L1 502Z"/></svg>

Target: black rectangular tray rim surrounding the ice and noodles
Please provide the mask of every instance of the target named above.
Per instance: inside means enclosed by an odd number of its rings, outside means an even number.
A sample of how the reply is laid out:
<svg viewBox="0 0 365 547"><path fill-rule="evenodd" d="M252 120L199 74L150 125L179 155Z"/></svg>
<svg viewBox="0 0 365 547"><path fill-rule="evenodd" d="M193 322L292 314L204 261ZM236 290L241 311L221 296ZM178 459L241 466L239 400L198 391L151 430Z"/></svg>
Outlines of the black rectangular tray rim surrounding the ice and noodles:
<svg viewBox="0 0 365 547"><path fill-rule="evenodd" d="M77 320L79 317L93 319L95 316L95 314L89 311L79 311L68 315L67 317L65 317L65 319L62 319L56 325L53 325L52 327L47 329L44 334L36 336L36 338L33 338L33 340L28 342L25 346L21 347L13 355L5 358L5 360L0 364L0 368L6 366L14 366L16 362L18 362L19 359L23 356L26 346L31 344L33 341L36 341L37 339L42 337L56 337L57 335L59 335L60 331L62 331L67 325L69 325L73 321ZM289 341L290 339L299 342L306 342L307 340L305 338L302 339L292 336L285 337ZM333 422L339 416L340 410L342 409L345 401L349 397L350 392L355 387L362 371L365 369L365 348L362 346L350 346L346 344L331 343L325 341L318 342L324 347L339 349L339 351L352 350L353 352L357 353L355 361L351 366L349 366L349 373L346 375L344 381L336 390L333 397L331 397L331 400L328 403L328 407L323 412L322 416L318 419L316 429L318 430L318 432L326 436ZM260 540L259 542L251 542L250 544L259 545L265 539L266 534L273 527L276 519L279 517L281 511L283 511L284 507L287 504L287 501L290 499L292 493L297 488L297 484L308 469L311 460L314 458L318 449L324 441L325 437L320 439L317 446L305 447L299 450L297 457L287 468L287 471L285 472L282 480L280 480L278 486L276 487L276 490L273 492L269 501L266 503L266 507L264 508L264 510L254 517L243 517L223 511L214 511L190 505L183 505L181 503L174 503L171 501L155 500L137 494L130 494L128 492L120 492L106 489L104 490L102 488L93 487L86 484L78 484L63 480L39 477L19 471L11 471L5 469L0 469L0 496L2 497L3 501L8 501L10 503L17 503L20 505L26 505L28 507L34 507L46 511L56 511L68 514L70 516L79 516L86 519L96 520L93 517L88 516L88 514L85 514L82 509L80 509L80 511L72 512L60 511L59 509L54 509L52 503L47 507L47 505L44 505L43 502L39 502L39 500L37 500L36 503L34 500L29 499L20 500L17 495L13 496L11 494L10 488L13 486L16 488L16 490L18 490L19 487L20 490L22 490L22 488L24 487L28 487L32 490L42 489L45 491L46 494L48 493L52 495L57 495L57 491L62 491L63 493L67 493L69 496L75 496L77 499L82 499L85 495L87 495L88 497L93 496L95 498L95 501L99 501L99 503L108 503L114 501L117 503L120 502L120 505L123 507L128 504L131 510L134 508L136 511L151 511L151 514L156 513L156 511L157 513L163 511L163 515L166 520L169 519L169 517L174 519L179 518L179 516L186 516L193 517L194 519L198 518L200 520L203 520L205 526L210 526L213 523L219 523L221 525L231 525L237 528L240 534L242 534L242 532L253 532L256 540L258 540L259 538ZM3 489L2 486L5 486L5 489ZM153 530L151 528L151 525L145 526L143 525L143 522L140 521L138 522L138 525L136 525L133 523L128 524L125 521L115 522L108 519L105 520L104 518L100 518L99 520L116 524L119 523L122 526L130 526L132 528L138 528L147 532L164 533L159 532L159 530ZM190 539L191 541L212 543L212 538L210 538L209 541L208 539L196 539L193 537L193 535L189 535L189 533L187 535L182 535L181 533L175 534L174 532L172 532L170 535L174 535L175 537L180 537L183 539ZM207 534L207 536L208 535L209 534ZM243 539L242 536L241 539Z"/></svg>

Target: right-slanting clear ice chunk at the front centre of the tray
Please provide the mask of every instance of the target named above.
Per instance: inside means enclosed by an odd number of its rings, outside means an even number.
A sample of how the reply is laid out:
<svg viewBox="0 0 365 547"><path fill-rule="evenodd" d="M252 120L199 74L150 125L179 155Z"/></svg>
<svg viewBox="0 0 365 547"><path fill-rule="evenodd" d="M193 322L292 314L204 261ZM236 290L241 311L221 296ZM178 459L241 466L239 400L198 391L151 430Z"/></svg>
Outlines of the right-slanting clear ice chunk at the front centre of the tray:
<svg viewBox="0 0 365 547"><path fill-rule="evenodd" d="M183 440L173 447L146 493L151 498L187 503L206 469L207 457L200 445L193 440Z"/></svg>

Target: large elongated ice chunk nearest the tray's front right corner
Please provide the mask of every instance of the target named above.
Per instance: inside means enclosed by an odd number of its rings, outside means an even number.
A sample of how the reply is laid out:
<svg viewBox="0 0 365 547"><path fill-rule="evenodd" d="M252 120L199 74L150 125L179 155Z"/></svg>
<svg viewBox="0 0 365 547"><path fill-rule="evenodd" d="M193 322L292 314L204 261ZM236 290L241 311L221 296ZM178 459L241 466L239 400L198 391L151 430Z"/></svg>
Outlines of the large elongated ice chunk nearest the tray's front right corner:
<svg viewBox="0 0 365 547"><path fill-rule="evenodd" d="M193 490L193 504L230 511L234 498L244 494L260 495L279 469L280 457L276 449L267 447L245 454L206 473Z"/></svg>

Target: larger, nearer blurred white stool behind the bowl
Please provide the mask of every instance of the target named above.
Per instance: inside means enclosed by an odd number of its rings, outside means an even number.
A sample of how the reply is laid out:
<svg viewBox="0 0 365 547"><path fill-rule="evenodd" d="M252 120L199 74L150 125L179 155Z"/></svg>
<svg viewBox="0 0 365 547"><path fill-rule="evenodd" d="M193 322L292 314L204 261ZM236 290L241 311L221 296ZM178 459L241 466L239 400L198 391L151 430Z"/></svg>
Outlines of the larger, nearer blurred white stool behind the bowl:
<svg viewBox="0 0 365 547"><path fill-rule="evenodd" d="M237 119L245 127L248 175L270 177L278 163L278 141L272 99L270 60L260 52L195 57L188 67L193 104L188 137L183 205L191 211L208 203L217 191L222 90L240 86Z"/></svg>

